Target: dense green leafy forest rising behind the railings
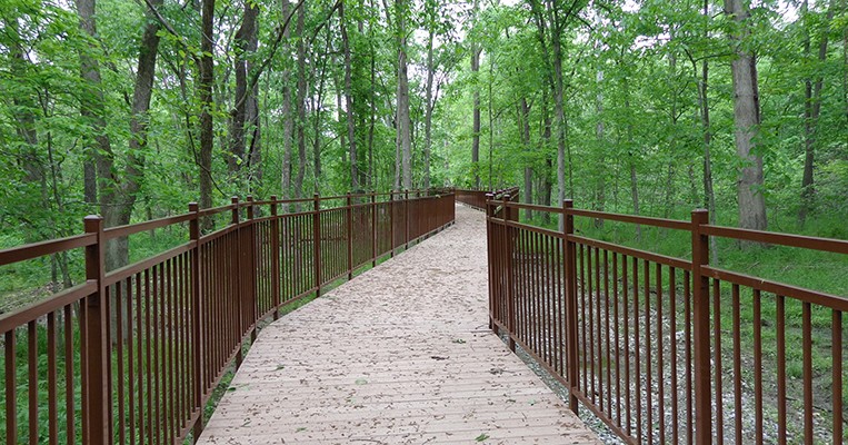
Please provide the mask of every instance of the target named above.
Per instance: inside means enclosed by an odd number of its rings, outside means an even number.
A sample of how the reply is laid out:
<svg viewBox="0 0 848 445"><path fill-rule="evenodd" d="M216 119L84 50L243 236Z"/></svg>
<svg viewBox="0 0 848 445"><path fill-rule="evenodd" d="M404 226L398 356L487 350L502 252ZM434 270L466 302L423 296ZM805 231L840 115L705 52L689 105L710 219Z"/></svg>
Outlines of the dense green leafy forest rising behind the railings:
<svg viewBox="0 0 848 445"><path fill-rule="evenodd" d="M0 248L232 196L508 186L845 238L846 3L3 1Z"/></svg>

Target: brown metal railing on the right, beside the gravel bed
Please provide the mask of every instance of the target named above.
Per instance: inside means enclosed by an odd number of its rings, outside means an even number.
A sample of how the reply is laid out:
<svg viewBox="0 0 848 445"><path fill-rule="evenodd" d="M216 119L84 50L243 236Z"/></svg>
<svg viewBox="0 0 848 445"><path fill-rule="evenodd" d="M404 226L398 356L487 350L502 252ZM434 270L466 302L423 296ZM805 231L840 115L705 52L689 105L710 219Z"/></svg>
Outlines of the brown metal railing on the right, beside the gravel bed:
<svg viewBox="0 0 848 445"><path fill-rule="evenodd" d="M704 210L682 221L493 198L490 324L568 388L571 409L633 444L848 442L848 298L708 258L710 237L838 255L848 241L712 226ZM563 229L518 222L521 209L562 216ZM578 235L575 217L689 233L694 260Z"/></svg>

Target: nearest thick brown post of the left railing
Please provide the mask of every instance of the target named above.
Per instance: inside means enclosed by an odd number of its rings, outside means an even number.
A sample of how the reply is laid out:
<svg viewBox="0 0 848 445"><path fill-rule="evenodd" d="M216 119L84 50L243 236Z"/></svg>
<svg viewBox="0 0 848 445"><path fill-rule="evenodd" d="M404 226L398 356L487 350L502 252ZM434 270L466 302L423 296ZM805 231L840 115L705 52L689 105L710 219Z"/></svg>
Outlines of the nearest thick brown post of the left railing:
<svg viewBox="0 0 848 445"><path fill-rule="evenodd" d="M97 290L86 297L86 356L83 357L83 373L86 373L88 406L83 412L87 417L88 443L93 445L110 444L109 400L110 387L108 380L109 348L106 344L107 329L109 328L109 314L107 313L107 298L109 298L103 277L106 266L103 261L103 218L100 216L87 216L84 219L87 234L94 234L97 241L86 247L86 280L93 281ZM7 413L14 415L14 413Z"/></svg>

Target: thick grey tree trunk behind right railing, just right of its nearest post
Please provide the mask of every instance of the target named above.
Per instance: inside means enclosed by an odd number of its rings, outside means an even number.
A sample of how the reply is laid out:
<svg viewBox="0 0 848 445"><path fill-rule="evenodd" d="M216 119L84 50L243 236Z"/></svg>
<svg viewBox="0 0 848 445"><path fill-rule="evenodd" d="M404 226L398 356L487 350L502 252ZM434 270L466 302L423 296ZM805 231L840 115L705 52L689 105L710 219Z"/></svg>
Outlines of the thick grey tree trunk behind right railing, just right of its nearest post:
<svg viewBox="0 0 848 445"><path fill-rule="evenodd" d="M756 140L760 125L759 90L755 56L742 43L748 37L748 4L745 0L725 0L725 13L737 22L738 31L730 39L736 46L736 58L730 68L734 78L734 123L736 152L745 162L737 182L739 227L765 230L766 200L762 194L762 156Z"/></svg>

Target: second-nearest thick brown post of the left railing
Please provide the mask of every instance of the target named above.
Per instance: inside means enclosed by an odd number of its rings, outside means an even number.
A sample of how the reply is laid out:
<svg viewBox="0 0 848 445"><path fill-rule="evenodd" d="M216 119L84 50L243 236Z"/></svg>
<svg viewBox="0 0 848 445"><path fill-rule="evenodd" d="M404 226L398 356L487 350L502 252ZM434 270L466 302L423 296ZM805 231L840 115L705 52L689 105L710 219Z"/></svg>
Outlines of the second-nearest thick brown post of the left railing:
<svg viewBox="0 0 848 445"><path fill-rule="evenodd" d="M192 408L200 413L191 429L193 442L197 443L200 433L203 431L203 409L202 409L202 378L203 367L201 357L203 342L201 338L201 303L200 303L200 206L197 202L189 204L189 211L192 214L189 220L189 239L191 240L191 403Z"/></svg>

